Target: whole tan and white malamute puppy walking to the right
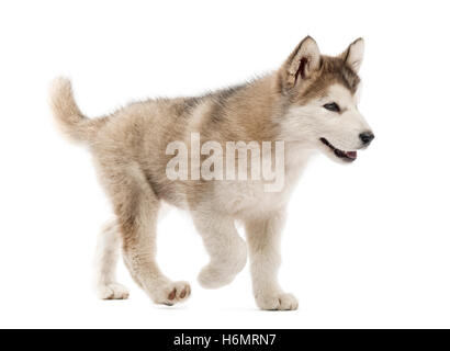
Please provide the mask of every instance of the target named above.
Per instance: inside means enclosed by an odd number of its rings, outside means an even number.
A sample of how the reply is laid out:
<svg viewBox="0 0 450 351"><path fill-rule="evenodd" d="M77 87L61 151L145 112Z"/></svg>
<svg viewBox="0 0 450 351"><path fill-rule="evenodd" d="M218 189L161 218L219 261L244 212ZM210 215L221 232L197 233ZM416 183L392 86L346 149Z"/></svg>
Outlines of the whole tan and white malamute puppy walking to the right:
<svg viewBox="0 0 450 351"><path fill-rule="evenodd" d="M70 82L57 79L50 93L55 118L69 138L88 145L114 210L98 245L100 297L128 296L115 278L120 248L133 279L155 303L173 305L190 296L190 285L166 278L155 260L164 201L189 211L203 238L211 260L199 275L202 286L229 284L245 267L248 248L258 306L296 309L297 301L283 292L277 278L285 207L316 151L350 163L357 150L374 138L357 107L363 48L363 41L357 39L341 55L324 56L306 37L277 71L251 82L202 97L135 102L93 120L78 109ZM222 177L217 170L223 171L223 162L206 163L214 177L205 177L203 161L210 151L195 151L193 135L199 145L213 141L221 152L228 151L227 143L243 141L233 150L232 162L226 162L227 172L237 160L234 151L244 148L247 155L248 143L256 149L281 141L282 152L270 149L261 158L265 162L281 155L282 162L277 163L281 166L271 166L282 171L280 186L268 191L267 181L258 177ZM168 152L173 143L187 147ZM176 154L180 173L170 177L168 166ZM250 170L249 165L245 170ZM244 224L247 242L238 235L236 220Z"/></svg>

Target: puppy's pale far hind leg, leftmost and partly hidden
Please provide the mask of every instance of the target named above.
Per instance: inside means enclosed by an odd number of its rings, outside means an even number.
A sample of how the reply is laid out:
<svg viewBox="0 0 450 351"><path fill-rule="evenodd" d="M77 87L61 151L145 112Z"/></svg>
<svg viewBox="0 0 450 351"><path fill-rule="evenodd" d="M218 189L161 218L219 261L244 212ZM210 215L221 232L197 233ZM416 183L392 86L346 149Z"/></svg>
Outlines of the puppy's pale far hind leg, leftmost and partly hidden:
<svg viewBox="0 0 450 351"><path fill-rule="evenodd" d="M95 250L95 288L102 299L126 299L128 290L119 284L115 269L119 260L120 233L115 220L99 234Z"/></svg>

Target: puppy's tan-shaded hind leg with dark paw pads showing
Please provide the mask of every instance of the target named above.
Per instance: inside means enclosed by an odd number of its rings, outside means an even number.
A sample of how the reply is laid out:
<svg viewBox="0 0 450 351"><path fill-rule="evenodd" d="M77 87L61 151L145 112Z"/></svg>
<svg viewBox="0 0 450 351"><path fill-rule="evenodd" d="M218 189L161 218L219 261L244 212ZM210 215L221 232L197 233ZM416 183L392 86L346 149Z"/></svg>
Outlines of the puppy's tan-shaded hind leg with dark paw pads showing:
<svg viewBox="0 0 450 351"><path fill-rule="evenodd" d="M187 282L172 282L156 262L159 201L138 169L114 174L108 189L122 237L125 265L134 281L157 304L175 305L191 294Z"/></svg>

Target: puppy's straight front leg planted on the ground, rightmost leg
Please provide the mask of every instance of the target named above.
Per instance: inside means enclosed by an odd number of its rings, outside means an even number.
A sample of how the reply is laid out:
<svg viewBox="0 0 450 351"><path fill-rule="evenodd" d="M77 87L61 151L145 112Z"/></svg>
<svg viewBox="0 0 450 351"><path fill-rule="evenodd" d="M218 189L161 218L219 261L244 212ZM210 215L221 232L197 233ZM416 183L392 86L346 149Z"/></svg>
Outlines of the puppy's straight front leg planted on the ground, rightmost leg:
<svg viewBox="0 0 450 351"><path fill-rule="evenodd" d="M296 298L284 293L278 282L278 271L281 264L280 235L284 219L284 211L278 211L262 218L246 220L254 295L261 309L292 310L299 308Z"/></svg>

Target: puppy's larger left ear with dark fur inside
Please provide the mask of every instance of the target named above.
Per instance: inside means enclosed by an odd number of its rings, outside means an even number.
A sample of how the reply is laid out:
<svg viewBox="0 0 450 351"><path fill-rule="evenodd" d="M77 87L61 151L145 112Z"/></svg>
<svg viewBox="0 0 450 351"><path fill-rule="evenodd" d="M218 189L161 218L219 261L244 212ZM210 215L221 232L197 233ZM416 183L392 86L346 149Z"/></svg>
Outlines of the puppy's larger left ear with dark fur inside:
<svg viewBox="0 0 450 351"><path fill-rule="evenodd" d="M283 90L293 88L299 81L308 79L313 71L320 67L320 52L317 43L306 36L279 71L279 79Z"/></svg>

